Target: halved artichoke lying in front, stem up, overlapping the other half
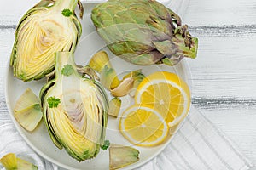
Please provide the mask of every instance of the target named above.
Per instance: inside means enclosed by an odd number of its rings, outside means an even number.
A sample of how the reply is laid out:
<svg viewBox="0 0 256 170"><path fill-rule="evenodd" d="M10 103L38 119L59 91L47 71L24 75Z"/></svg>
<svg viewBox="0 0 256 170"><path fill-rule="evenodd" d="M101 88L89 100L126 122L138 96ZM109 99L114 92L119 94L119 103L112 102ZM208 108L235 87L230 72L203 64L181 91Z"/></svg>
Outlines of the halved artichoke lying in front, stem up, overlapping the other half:
<svg viewBox="0 0 256 170"><path fill-rule="evenodd" d="M108 97L82 76L71 52L55 53L55 78L40 91L44 123L59 148L78 161L93 158L105 140Z"/></svg>

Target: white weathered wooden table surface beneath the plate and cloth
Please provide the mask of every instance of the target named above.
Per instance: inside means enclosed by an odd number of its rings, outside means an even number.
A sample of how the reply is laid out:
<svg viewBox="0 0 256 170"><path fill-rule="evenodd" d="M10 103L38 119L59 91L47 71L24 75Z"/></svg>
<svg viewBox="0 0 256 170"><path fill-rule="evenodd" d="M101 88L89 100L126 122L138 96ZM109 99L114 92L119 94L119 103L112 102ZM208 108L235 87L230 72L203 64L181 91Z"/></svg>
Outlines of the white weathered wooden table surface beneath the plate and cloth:
<svg viewBox="0 0 256 170"><path fill-rule="evenodd" d="M10 122L4 78L15 26L37 2L0 1L0 122ZM191 0L183 23L199 38L197 59L187 59L192 103L256 164L256 0Z"/></svg>

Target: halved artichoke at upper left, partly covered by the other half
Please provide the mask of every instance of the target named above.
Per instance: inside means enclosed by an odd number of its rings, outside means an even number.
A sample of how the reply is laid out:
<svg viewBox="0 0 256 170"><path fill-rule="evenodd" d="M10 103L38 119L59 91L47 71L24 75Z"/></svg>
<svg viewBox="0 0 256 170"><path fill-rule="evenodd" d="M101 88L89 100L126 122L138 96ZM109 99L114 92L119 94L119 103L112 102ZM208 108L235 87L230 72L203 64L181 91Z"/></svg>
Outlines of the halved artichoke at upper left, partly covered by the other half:
<svg viewBox="0 0 256 170"><path fill-rule="evenodd" d="M73 51L82 34L74 14L79 0L41 0L21 18L10 65L23 81L38 80L54 69L56 51Z"/></svg>

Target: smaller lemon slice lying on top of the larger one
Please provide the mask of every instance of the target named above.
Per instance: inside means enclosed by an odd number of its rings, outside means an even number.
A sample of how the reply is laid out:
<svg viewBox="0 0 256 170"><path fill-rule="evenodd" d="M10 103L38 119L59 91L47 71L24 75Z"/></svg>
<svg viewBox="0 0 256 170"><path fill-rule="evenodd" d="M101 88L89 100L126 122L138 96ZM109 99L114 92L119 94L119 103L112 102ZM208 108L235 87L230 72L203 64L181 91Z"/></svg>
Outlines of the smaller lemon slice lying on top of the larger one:
<svg viewBox="0 0 256 170"><path fill-rule="evenodd" d="M168 125L150 105L132 105L123 112L120 132L132 144L154 146L162 143L168 134Z"/></svg>

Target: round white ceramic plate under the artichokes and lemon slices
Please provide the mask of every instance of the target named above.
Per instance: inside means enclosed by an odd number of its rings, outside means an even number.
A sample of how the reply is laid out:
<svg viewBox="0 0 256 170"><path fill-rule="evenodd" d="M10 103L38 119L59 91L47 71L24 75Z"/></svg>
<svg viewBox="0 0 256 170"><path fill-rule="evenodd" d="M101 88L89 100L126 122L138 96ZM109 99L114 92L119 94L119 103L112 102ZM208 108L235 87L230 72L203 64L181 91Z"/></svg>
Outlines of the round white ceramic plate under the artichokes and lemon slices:
<svg viewBox="0 0 256 170"><path fill-rule="evenodd" d="M75 61L79 65L86 65L89 61L90 57L95 54L99 50L106 50L108 48L105 47L105 43L102 42L102 39L97 35L94 26L90 21L90 9L95 4L85 4L85 12L84 20L82 20L83 25L83 36L80 39L78 48L75 53ZM142 69L145 75L148 75L154 71L171 71L177 73L180 77L183 78L185 82L190 84L190 72L189 66L186 64L185 59L180 62L178 65L174 67L166 66L166 65L152 65L152 66L137 66L131 65L130 63L125 62L122 59L114 57L113 54L110 54L111 62L120 75L127 73L128 71L133 71L137 69ZM45 83L45 79L40 81L33 82L22 82L13 76L12 68L8 65L7 71L7 80L6 80L6 102L9 108L10 116L15 124L15 127L19 131L20 135L26 140L26 143L29 144L33 150L35 150L40 156L43 156L48 161L55 163L60 167L64 167L67 169L97 169L97 170L106 170L108 169L108 150L101 150L101 152L96 156L95 159L89 161L78 162L74 160L71 156L67 155L65 150L58 150L55 145L52 143L49 138L49 133L47 129L44 127L44 122L40 122L39 126L32 133L27 132L20 124L15 121L13 116L15 101L20 97L20 95L26 90L26 88L32 88L35 94L39 94L40 89ZM122 99L122 110L133 103L133 99L131 97L124 97ZM118 130L118 120L109 117L108 118L108 130L106 139L109 139L111 143L114 144L125 144L131 145L120 133ZM140 161L137 163L125 167L123 169L132 169L139 166L142 166L147 161L157 156L162 150L165 149L166 144L171 141L172 138L169 138L166 143L160 144L156 147L143 148L137 147L137 150L140 151Z"/></svg>

